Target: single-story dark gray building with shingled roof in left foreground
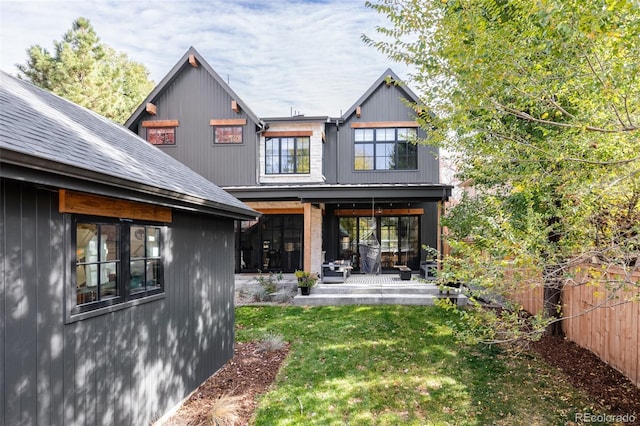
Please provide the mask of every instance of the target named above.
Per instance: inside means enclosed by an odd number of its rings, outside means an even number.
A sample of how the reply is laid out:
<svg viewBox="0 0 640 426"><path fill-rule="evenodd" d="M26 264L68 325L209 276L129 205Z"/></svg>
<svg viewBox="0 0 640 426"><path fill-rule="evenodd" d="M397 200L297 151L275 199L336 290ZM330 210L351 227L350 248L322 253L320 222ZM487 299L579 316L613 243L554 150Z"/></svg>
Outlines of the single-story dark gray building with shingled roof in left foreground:
<svg viewBox="0 0 640 426"><path fill-rule="evenodd" d="M0 74L0 424L150 424L233 355L257 212L128 129Z"/></svg>

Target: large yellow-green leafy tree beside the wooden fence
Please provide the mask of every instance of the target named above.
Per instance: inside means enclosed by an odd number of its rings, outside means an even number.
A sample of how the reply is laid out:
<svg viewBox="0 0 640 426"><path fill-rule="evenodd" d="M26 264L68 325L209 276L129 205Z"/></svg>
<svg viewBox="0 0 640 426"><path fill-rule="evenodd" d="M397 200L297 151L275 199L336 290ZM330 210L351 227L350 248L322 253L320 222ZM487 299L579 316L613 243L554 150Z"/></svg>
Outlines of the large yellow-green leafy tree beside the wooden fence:
<svg viewBox="0 0 640 426"><path fill-rule="evenodd" d="M435 113L419 118L430 143L457 153L460 177L480 194L448 215L450 243L465 260L450 259L450 274L500 292L513 291L503 285L509 273L522 272L521 286L539 274L538 325L550 334L561 332L568 283L637 285L602 271L637 268L640 248L640 5L367 5L391 27L364 41L413 67L411 81ZM589 278L577 280L586 264Z"/></svg>

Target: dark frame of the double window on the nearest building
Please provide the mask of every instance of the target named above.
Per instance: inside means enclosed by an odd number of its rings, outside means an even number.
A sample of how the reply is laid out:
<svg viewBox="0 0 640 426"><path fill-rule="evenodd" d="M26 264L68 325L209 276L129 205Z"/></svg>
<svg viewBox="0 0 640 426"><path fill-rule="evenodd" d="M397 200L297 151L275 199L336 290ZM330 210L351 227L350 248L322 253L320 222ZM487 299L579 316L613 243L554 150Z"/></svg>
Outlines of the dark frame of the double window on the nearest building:
<svg viewBox="0 0 640 426"><path fill-rule="evenodd" d="M90 215L72 215L65 214L66 223L68 224L67 235L69 235L69 242L67 244L68 247L68 265L69 279L65 280L67 285L65 285L65 289L68 292L66 297L67 309L66 309L66 323L71 323L87 318L91 318L98 315L103 315L108 312L117 311L120 309L125 309L131 306L135 306L141 303L147 303L158 299L163 299L166 294L166 280L165 280L165 265L166 265L166 255L165 255L165 239L167 235L167 225L161 222L154 222L150 220L130 220L130 219L119 219L113 217L106 216L90 216ZM118 268L118 276L117 276L117 294L113 297L90 301L86 303L78 304L78 292L77 292L77 284L78 284L78 276L77 276L77 267L78 267L78 244L77 244L77 230L78 224L88 223L88 224L98 224L98 225L117 225L118 226L118 234L119 234L119 268ZM144 227L147 228L156 228L158 229L159 241L158 241L158 253L156 256L147 256L146 253L146 240L145 240L145 256L144 257L136 257L135 259L131 256L131 247L130 247L130 238L131 238L131 228L133 227ZM145 232L145 238L146 238ZM130 287L131 280L125 280L124 277L130 276L131 272L131 262L133 260L136 261L146 261L147 259L159 260L159 283L157 287L146 288L143 291L133 292ZM98 262L100 259L98 259ZM80 262L82 265L87 265L93 262ZM147 273L145 271L145 273ZM99 285L96 287L99 288ZM96 290L98 291L98 290Z"/></svg>

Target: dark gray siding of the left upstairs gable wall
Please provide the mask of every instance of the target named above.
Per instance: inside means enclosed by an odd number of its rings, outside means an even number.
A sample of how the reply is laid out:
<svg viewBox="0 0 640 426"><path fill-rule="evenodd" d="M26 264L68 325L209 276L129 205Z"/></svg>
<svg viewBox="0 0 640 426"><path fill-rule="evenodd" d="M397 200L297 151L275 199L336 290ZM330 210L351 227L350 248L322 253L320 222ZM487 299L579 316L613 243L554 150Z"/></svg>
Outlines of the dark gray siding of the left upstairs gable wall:
<svg viewBox="0 0 640 426"><path fill-rule="evenodd" d="M186 64L153 100L157 115L142 114L134 131L146 139L142 121L179 120L176 145L160 149L218 186L254 185L257 182L256 123L244 111L234 112L232 100L204 67ZM211 119L241 118L247 119L242 145L213 144Z"/></svg>

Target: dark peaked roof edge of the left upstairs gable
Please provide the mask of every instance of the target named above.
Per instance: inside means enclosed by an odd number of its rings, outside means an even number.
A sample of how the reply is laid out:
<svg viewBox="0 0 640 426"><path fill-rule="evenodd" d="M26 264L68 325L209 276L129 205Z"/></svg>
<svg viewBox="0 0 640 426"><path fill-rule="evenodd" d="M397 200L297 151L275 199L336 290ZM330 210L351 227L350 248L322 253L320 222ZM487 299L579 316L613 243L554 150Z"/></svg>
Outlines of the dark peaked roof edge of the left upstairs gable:
<svg viewBox="0 0 640 426"><path fill-rule="evenodd" d="M213 77L213 79L222 87L222 89L225 92L227 92L229 96L231 96L231 98L238 103L242 111L244 111L249 116L249 118L253 120L254 123L262 125L262 121L258 118L258 116L251 111L251 109L247 106L247 104L245 104L240 99L240 97L231 89L231 87L218 75L218 73L213 70L211 65L209 65L207 61L204 60L202 55L200 55L200 53L198 53L198 51L193 46L191 46L186 51L186 53L182 55L182 58L178 60L178 62L173 66L173 68L171 68L169 73L164 76L162 81L158 83L158 85L151 91L149 96L147 96L146 99L142 101L138 109L136 109L135 112L131 114L131 117L129 117L126 123L124 123L125 127L131 128L131 126L136 121L140 120L142 114L145 112L147 103L149 102L154 103L155 99L162 92L164 92L164 90L176 79L176 77L180 74L180 72L183 69L187 67L191 68L191 65L189 64L190 55L194 56L198 64L201 65L211 75L211 77Z"/></svg>

